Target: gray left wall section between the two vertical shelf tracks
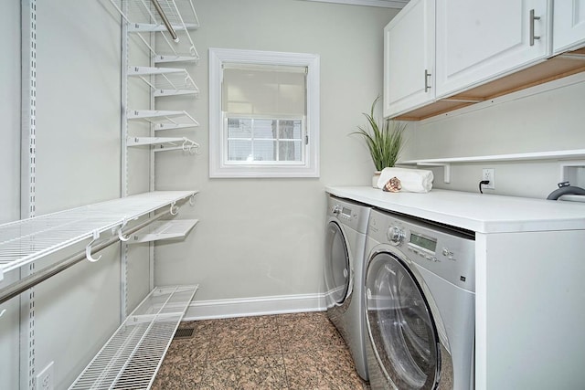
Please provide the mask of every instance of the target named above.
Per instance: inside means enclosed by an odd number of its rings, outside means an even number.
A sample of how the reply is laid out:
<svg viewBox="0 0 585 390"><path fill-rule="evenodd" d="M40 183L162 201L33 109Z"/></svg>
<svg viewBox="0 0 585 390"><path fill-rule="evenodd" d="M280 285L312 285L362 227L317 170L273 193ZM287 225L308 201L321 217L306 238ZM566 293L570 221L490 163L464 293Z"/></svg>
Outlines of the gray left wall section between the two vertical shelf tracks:
<svg viewBox="0 0 585 390"><path fill-rule="evenodd" d="M37 215L120 196L120 29L101 2L37 3ZM36 372L71 383L120 318L119 248L36 288Z"/></svg>

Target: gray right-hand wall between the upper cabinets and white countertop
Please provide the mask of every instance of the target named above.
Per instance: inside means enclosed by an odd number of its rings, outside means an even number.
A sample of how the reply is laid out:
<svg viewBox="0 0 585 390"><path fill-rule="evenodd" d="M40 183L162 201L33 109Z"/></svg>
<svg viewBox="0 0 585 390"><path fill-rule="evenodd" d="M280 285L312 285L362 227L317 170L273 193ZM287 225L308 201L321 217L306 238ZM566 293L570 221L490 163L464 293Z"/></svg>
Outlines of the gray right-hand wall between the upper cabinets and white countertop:
<svg viewBox="0 0 585 390"><path fill-rule="evenodd" d="M558 88L543 91L548 86ZM548 86L500 99L510 101L488 101L472 110L413 123L404 160L583 149L585 76ZM477 192L483 168L495 168L495 190L484 190L484 194L546 198L561 181L560 163L554 160L465 163L452 165L451 184L443 183L442 168L433 168L433 186Z"/></svg>

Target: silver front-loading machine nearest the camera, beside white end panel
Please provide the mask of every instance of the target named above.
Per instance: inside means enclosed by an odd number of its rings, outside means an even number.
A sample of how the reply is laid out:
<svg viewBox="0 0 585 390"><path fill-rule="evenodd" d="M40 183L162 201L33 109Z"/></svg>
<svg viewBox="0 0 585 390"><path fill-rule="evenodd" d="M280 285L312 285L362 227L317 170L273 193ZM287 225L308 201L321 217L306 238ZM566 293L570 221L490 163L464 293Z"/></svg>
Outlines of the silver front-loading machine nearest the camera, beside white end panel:
<svg viewBox="0 0 585 390"><path fill-rule="evenodd" d="M372 390L473 389L473 232L372 210L366 247Z"/></svg>

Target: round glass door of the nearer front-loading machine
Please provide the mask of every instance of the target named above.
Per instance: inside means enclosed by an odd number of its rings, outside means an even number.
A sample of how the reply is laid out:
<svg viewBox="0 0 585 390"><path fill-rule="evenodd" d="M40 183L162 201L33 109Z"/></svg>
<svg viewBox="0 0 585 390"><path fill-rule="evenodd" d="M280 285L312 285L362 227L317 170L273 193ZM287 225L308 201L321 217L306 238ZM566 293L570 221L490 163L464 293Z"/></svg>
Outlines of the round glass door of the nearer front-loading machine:
<svg viewBox="0 0 585 390"><path fill-rule="evenodd" d="M381 252L366 275L367 330L378 364L400 390L433 389L439 339L420 285L404 263Z"/></svg>

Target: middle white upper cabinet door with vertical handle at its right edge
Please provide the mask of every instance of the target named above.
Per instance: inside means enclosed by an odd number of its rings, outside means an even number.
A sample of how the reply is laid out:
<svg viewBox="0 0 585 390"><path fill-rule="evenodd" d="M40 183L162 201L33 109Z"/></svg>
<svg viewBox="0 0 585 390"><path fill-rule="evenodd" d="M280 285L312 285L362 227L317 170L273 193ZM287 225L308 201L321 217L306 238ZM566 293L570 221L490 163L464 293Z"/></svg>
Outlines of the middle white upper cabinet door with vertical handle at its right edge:
<svg viewBox="0 0 585 390"><path fill-rule="evenodd" d="M544 60L549 0L437 0L437 98Z"/></svg>

